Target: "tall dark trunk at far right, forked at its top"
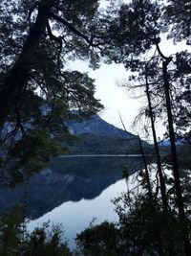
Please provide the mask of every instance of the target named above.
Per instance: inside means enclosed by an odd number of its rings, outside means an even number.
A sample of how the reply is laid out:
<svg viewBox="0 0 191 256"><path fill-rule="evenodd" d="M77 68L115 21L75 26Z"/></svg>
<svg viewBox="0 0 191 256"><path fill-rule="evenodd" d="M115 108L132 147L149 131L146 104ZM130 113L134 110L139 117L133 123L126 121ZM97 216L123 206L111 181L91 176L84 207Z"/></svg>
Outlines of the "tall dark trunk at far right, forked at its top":
<svg viewBox="0 0 191 256"><path fill-rule="evenodd" d="M168 72L167 72L167 66L171 60L172 58L166 58L162 62L162 73L163 73L164 92L165 92L165 100L166 100L166 110L167 110L167 117L168 117L168 128L169 128L169 137L170 137L170 145L171 145L173 175L175 178L177 204L179 209L179 216L180 216L183 242L184 242L184 252L186 256L190 256L191 244L190 244L189 233L188 233L188 221L184 212L182 191L180 186L180 172L179 172L178 156L177 156L176 141L175 141L175 131L173 127L172 106L171 106L171 99L170 99L170 84L169 84Z"/></svg>

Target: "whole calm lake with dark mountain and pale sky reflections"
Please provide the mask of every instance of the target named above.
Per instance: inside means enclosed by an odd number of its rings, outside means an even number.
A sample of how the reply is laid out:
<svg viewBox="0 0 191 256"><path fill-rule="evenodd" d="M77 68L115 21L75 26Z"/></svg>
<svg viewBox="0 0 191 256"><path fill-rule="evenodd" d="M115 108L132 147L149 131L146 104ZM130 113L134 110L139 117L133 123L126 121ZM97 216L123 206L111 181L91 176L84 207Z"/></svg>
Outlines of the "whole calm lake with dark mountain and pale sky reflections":
<svg viewBox="0 0 191 256"><path fill-rule="evenodd" d="M59 156L50 167L29 182L28 228L45 221L62 223L65 237L74 248L74 237L91 221L117 221L112 198L127 190L123 167L133 174L141 167L138 155ZM0 209L24 201L24 185L0 188Z"/></svg>

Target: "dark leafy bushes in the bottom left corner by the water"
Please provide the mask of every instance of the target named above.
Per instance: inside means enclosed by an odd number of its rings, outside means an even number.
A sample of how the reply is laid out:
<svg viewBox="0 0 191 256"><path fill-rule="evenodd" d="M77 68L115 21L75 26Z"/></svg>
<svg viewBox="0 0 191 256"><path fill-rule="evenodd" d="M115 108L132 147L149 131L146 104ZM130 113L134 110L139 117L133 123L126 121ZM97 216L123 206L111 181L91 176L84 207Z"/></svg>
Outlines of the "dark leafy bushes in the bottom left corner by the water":
<svg viewBox="0 0 191 256"><path fill-rule="evenodd" d="M49 223L43 223L41 227L36 227L32 232L27 231L23 236L21 221L19 207L1 218L0 255L72 255L67 242L63 239L61 225L50 226Z"/></svg>

